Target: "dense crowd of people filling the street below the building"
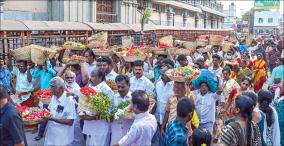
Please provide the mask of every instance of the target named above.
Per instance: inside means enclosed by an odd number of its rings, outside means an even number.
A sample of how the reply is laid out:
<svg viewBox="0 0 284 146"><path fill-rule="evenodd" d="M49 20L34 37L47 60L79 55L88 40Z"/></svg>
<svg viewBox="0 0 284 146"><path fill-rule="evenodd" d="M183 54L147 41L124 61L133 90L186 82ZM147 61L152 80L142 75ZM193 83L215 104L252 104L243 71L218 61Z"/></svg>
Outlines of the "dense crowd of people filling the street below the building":
<svg viewBox="0 0 284 146"><path fill-rule="evenodd" d="M24 125L15 105L47 108L50 117L36 125L45 145L284 145L283 40L234 42L196 46L191 55L147 55L125 62L123 58L97 56L85 49L86 61L76 65L49 59L44 65L12 60L0 63L0 145L27 145ZM282 52L282 55L281 55ZM82 53L76 52L73 53ZM13 53L11 53L13 56ZM192 87L191 80L171 80L167 70L191 66L218 77L218 90L210 82ZM115 81L117 92L107 81ZM264 84L267 84L264 85ZM135 118L107 122L99 115L79 113L80 88L100 89L112 107L131 100ZM49 104L34 98L37 90L51 90ZM149 111L149 93L155 107ZM13 100L10 95L21 95Z"/></svg>

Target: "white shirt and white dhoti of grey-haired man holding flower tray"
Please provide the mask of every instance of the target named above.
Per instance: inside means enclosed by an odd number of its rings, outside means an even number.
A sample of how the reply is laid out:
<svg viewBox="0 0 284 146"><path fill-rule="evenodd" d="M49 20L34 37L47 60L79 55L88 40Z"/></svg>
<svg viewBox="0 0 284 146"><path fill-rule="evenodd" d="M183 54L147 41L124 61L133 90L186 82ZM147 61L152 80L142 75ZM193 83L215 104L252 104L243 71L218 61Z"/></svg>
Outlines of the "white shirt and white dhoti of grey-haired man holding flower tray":
<svg viewBox="0 0 284 146"><path fill-rule="evenodd" d="M57 111L58 106L63 106L63 111ZM75 103L66 92L60 98L53 96L48 106L52 118L76 119ZM74 138L74 127L48 121L44 145L68 145Z"/></svg>

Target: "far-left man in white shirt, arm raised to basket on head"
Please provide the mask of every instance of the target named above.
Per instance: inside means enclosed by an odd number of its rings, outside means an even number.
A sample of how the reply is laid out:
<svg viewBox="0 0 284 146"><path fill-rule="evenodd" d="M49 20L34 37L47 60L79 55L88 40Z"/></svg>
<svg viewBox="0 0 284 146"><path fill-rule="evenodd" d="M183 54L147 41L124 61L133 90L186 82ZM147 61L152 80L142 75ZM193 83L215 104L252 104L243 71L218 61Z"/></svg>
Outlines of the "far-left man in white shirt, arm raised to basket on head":
<svg viewBox="0 0 284 146"><path fill-rule="evenodd" d="M30 68L28 68L27 61L20 60L17 63L18 68L13 66L12 74L16 76L16 93L23 94L21 96L21 99L18 100L17 103L23 103L23 105L25 105L25 101L30 98L31 91L33 91L32 75Z"/></svg>

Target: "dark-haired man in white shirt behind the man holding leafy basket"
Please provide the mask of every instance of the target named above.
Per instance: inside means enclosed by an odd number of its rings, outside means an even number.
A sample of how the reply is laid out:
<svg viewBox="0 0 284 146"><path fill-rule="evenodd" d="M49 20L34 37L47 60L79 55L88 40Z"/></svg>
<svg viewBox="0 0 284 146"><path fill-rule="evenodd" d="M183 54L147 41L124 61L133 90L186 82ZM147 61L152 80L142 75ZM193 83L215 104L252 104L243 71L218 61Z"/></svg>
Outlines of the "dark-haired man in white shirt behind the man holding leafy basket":
<svg viewBox="0 0 284 146"><path fill-rule="evenodd" d="M106 81L113 81L115 80L115 77L118 75L113 68L115 67L113 65L113 61L106 56L102 56L97 59L97 67L98 69L102 70L106 74Z"/></svg>

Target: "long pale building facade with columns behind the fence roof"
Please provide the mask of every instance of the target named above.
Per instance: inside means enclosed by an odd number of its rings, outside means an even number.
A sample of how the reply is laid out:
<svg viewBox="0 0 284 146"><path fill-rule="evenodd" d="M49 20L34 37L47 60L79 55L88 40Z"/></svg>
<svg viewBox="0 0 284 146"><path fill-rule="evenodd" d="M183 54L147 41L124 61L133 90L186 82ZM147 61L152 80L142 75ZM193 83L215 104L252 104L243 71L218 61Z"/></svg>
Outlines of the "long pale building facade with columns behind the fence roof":
<svg viewBox="0 0 284 146"><path fill-rule="evenodd" d="M216 0L1 0L1 19L138 24L146 7L149 24L223 28L223 5ZM0 4L1 6L1 4Z"/></svg>

